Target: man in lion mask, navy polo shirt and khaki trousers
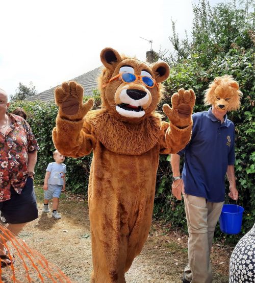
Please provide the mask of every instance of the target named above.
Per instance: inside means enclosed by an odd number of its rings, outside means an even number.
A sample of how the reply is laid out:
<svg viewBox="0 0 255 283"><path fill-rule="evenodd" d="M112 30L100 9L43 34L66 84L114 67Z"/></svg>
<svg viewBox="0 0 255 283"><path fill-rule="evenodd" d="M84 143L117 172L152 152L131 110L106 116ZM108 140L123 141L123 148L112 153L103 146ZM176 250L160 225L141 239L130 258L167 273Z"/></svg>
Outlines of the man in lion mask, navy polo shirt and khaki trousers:
<svg viewBox="0 0 255 283"><path fill-rule="evenodd" d="M238 199L234 172L235 126L226 115L228 110L240 107L238 89L238 83L231 76L216 78L205 97L205 102L213 106L192 115L190 143L171 155L172 193L179 200L184 194L189 230L189 263L184 270L184 283L211 283L213 280L210 251L225 199L226 174L230 182L229 196ZM239 103L234 105L236 99ZM180 157L184 153L181 176Z"/></svg>

